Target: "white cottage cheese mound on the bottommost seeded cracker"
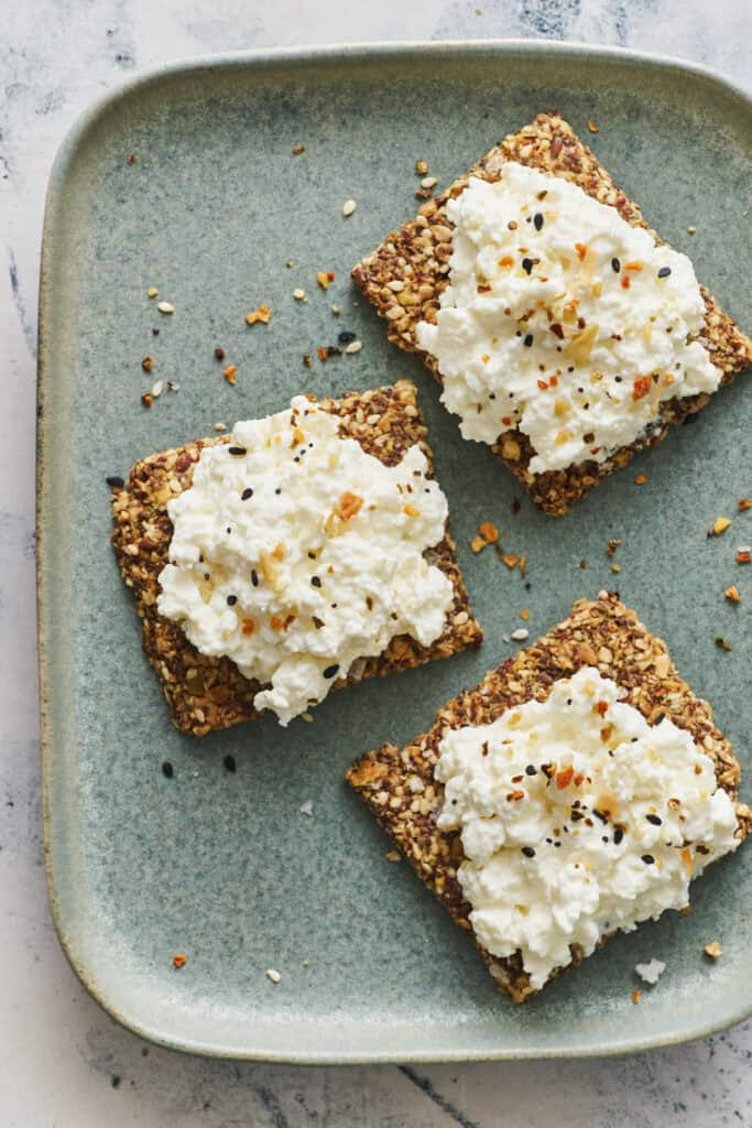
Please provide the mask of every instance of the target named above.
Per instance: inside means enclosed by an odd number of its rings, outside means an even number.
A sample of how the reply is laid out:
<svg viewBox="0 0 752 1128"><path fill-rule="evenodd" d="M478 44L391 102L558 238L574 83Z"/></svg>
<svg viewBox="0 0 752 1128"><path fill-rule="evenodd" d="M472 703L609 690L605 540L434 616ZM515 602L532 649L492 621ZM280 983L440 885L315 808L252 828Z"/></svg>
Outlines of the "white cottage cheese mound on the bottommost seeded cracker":
<svg viewBox="0 0 752 1128"><path fill-rule="evenodd" d="M494 955L519 950L536 988L570 944L590 955L608 933L683 908L692 875L738 845L709 757L623 696L585 667L439 746L439 827L461 831L470 923Z"/></svg>

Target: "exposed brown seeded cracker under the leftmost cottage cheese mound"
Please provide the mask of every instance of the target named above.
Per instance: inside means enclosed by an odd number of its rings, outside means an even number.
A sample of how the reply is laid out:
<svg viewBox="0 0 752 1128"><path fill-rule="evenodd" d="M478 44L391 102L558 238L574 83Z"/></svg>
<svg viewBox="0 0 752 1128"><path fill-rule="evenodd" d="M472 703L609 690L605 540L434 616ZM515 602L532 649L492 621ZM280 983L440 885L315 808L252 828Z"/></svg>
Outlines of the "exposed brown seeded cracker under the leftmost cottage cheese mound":
<svg viewBox="0 0 752 1128"><path fill-rule="evenodd" d="M356 439L368 453L387 466L399 462L418 443L428 460L428 473L433 474L426 428L416 403L415 386L409 381L351 391L340 399L324 399L321 406L339 417L342 438ZM123 579L136 599L143 649L159 678L174 724L195 737L259 716L254 697L262 686L245 678L230 659L200 654L180 627L157 611L159 574L167 564L172 537L167 503L191 485L203 448L225 442L230 442L229 435L198 439L175 450L150 455L136 462L122 488L113 491L112 539ZM422 646L409 635L398 635L382 654L360 659L346 678L337 679L336 687L392 670L408 670L455 654L466 646L479 645L483 631L468 606L449 526L441 544L427 549L425 556L454 588L443 634L430 646Z"/></svg>

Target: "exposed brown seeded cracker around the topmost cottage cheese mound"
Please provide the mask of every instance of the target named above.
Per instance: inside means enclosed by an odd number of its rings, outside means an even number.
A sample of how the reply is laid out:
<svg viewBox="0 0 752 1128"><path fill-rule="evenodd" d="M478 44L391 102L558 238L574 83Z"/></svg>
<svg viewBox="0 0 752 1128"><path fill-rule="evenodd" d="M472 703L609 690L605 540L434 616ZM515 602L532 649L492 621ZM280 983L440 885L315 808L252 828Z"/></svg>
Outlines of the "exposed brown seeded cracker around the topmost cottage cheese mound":
<svg viewBox="0 0 752 1128"><path fill-rule="evenodd" d="M557 113L539 114L531 125L506 136L445 192L425 203L415 219L388 235L377 250L353 268L355 284L387 319L389 340L406 352L418 353L440 384L436 360L418 349L416 329L419 321L434 319L441 294L449 283L452 223L446 215L446 201L462 192L470 176L497 180L507 160L570 180L601 203L616 208L632 227L648 230L656 244L662 241L648 227L637 204L616 186L572 126ZM404 284L398 293L389 288L389 282L395 281ZM700 289L706 307L700 341L711 354L713 363L722 370L723 386L752 363L752 342L722 311L715 298L704 287ZM704 393L664 400L655 420L660 426L651 431L649 438L636 439L603 462L585 461L561 470L531 474L528 466L533 449L528 437L516 428L498 437L494 451L532 500L547 513L559 517L607 474L626 466L638 450L661 442L671 424L683 423L709 399Z"/></svg>

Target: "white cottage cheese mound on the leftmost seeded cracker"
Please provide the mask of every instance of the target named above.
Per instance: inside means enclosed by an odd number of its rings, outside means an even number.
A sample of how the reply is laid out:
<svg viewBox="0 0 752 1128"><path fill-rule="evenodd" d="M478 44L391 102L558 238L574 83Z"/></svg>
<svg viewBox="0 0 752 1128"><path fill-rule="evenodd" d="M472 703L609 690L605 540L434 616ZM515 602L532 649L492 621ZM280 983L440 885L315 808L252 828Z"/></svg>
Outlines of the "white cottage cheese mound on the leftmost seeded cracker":
<svg viewBox="0 0 752 1128"><path fill-rule="evenodd" d="M446 499L426 470L417 446L384 466L304 396L237 423L168 504L160 615L267 687L256 708L287 724L395 635L428 645L444 629L452 584L423 553Z"/></svg>

